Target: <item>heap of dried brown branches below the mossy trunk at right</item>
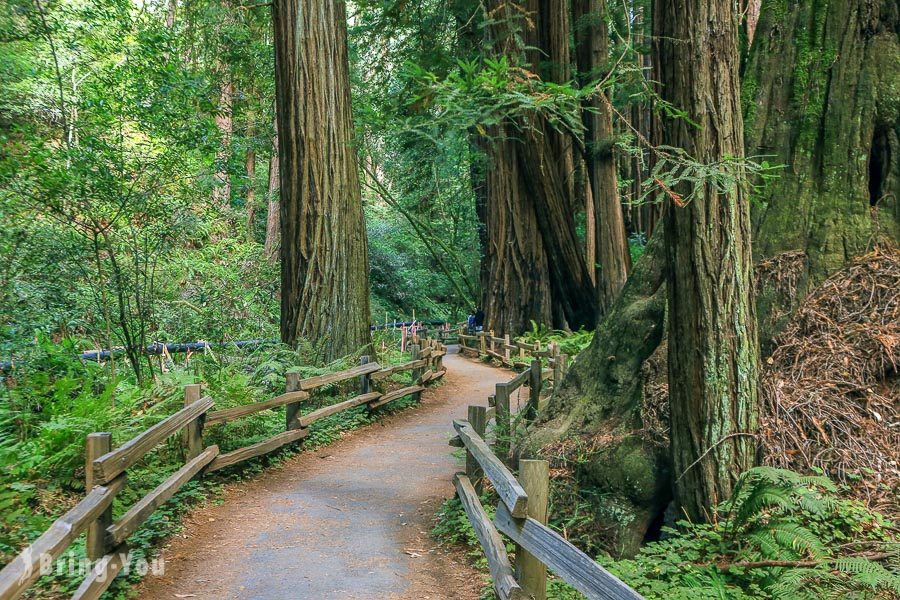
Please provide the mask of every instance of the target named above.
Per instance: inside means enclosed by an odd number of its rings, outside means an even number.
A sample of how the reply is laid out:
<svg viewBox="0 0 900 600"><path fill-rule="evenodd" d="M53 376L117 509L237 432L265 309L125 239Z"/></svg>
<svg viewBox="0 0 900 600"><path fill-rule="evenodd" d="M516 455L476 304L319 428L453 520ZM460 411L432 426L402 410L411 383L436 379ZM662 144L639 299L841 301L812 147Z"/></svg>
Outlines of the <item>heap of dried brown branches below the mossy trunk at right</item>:
<svg viewBox="0 0 900 600"><path fill-rule="evenodd" d="M767 363L766 462L822 469L897 516L900 253L864 256L814 290Z"/></svg>

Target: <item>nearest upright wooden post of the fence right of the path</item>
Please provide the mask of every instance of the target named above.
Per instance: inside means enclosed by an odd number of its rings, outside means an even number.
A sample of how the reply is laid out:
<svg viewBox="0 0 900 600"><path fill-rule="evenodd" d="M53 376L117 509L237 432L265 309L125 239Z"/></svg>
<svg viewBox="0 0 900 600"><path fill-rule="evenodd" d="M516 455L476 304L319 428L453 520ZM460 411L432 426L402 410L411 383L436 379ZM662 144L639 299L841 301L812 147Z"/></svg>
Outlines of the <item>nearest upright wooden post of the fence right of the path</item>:
<svg viewBox="0 0 900 600"><path fill-rule="evenodd" d="M528 516L547 524L550 497L550 463L546 460L520 460L519 482L528 494ZM534 600L547 598L547 567L525 549L516 547L516 579Z"/></svg>

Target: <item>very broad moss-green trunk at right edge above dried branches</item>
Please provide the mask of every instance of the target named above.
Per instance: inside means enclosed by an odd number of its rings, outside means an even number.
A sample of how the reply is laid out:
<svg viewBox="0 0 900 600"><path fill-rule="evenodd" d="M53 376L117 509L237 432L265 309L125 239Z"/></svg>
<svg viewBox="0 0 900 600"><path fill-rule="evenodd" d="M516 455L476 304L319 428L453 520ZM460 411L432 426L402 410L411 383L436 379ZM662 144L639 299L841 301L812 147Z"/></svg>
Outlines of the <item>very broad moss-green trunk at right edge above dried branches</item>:
<svg viewBox="0 0 900 600"><path fill-rule="evenodd" d="M900 243L898 28L891 2L762 4L744 69L747 153L786 167L754 212L754 254L806 255L796 293L760 290L764 344L849 259Z"/></svg>

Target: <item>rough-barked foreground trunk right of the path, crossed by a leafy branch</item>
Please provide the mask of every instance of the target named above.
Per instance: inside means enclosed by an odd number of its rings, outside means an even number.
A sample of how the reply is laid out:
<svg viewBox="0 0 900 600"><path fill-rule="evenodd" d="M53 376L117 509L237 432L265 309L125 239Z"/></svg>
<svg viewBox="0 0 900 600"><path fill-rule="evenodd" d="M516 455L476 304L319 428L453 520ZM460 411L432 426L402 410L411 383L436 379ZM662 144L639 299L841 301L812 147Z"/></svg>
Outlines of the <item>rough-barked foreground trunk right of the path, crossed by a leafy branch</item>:
<svg viewBox="0 0 900 600"><path fill-rule="evenodd" d="M693 121L666 119L664 142L704 163L744 153L735 8L731 0L656 5L662 95ZM759 350L749 198L739 185L687 185L700 187L681 189L693 199L665 217L670 437L676 501L704 521L756 462Z"/></svg>

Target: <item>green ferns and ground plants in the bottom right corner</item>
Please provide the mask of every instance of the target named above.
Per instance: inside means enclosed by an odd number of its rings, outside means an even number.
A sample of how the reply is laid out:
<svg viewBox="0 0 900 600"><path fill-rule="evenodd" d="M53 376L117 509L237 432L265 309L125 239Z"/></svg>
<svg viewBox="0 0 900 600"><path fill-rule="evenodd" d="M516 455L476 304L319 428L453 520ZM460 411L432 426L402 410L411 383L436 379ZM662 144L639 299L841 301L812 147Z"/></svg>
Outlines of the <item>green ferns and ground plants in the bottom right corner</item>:
<svg viewBox="0 0 900 600"><path fill-rule="evenodd" d="M713 524L681 522L635 559L603 562L646 598L900 598L893 524L836 492L824 477L751 469Z"/></svg>

